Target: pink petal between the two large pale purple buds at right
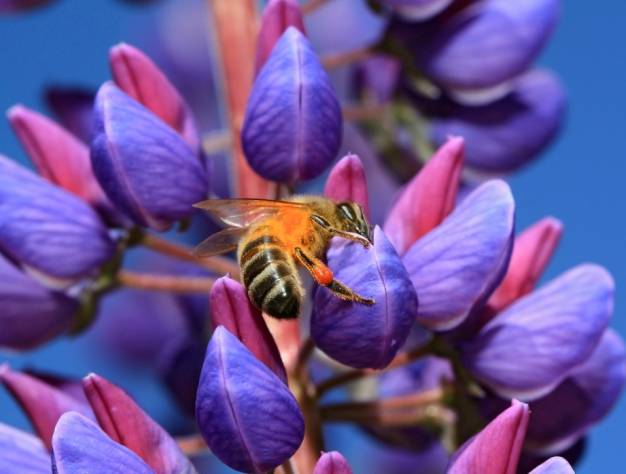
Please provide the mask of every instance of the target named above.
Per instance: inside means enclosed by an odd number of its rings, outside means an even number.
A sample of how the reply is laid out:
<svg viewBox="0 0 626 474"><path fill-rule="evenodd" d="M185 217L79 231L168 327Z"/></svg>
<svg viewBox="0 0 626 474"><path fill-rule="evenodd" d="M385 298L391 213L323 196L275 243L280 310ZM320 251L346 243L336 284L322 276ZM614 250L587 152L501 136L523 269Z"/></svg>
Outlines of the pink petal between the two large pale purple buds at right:
<svg viewBox="0 0 626 474"><path fill-rule="evenodd" d="M513 245L507 273L489 298L489 308L500 311L530 293L561 239L563 225L546 217L522 232Z"/></svg>

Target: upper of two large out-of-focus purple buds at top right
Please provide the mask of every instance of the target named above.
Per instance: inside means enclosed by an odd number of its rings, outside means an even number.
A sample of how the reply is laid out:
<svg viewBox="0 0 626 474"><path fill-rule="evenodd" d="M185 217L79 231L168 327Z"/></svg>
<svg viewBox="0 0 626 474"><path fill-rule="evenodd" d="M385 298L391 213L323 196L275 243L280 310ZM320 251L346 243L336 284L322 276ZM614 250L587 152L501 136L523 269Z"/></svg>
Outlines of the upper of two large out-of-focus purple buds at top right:
<svg viewBox="0 0 626 474"><path fill-rule="evenodd" d="M558 0L472 2L421 38L417 66L448 88L481 89L524 72L552 33Z"/></svg>

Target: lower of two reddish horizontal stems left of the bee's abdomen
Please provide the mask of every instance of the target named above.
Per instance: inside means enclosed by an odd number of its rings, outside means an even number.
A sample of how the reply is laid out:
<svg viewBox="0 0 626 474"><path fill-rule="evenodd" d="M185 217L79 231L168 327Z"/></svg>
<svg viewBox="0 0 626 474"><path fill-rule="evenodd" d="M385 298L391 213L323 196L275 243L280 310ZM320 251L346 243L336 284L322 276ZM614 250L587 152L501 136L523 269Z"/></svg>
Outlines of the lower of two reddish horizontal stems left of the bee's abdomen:
<svg viewBox="0 0 626 474"><path fill-rule="evenodd" d="M117 281L129 288L173 293L207 293L215 283L214 278L158 275L129 270L120 270Z"/></svg>

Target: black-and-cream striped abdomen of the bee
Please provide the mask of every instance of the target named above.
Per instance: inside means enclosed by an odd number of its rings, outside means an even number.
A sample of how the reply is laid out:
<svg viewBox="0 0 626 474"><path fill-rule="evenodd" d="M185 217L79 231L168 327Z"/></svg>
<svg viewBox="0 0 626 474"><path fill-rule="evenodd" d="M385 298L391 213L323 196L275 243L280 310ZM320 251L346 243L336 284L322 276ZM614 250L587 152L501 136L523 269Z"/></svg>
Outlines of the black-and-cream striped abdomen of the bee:
<svg viewBox="0 0 626 474"><path fill-rule="evenodd" d="M295 318L302 299L291 256L276 237L253 238L241 249L239 265L250 300L275 318Z"/></svg>

